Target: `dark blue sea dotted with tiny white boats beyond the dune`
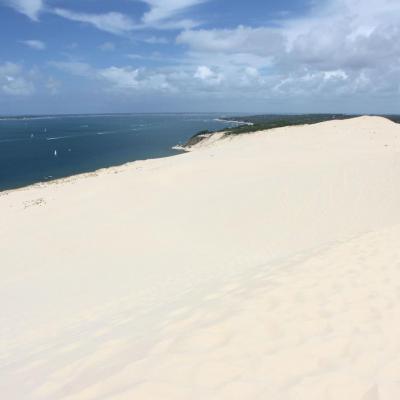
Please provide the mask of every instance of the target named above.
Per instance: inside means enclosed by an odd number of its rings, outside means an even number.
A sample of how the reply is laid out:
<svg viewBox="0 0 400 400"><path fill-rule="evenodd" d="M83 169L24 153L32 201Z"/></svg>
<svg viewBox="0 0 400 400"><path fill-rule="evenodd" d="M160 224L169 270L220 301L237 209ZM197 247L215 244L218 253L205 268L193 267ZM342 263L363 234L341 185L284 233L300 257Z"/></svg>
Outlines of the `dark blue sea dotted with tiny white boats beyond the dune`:
<svg viewBox="0 0 400 400"><path fill-rule="evenodd" d="M178 154L200 130L232 126L217 114L0 117L0 191L135 160Z"/></svg>

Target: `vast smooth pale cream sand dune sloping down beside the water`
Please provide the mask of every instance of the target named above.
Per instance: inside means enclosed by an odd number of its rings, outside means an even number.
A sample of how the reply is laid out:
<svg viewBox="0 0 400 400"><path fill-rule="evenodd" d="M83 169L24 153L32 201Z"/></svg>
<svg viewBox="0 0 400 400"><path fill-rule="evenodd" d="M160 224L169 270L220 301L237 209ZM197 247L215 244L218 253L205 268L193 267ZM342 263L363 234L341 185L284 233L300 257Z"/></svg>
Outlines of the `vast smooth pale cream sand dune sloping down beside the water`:
<svg viewBox="0 0 400 400"><path fill-rule="evenodd" d="M7 400L400 398L400 126L0 193Z"/></svg>

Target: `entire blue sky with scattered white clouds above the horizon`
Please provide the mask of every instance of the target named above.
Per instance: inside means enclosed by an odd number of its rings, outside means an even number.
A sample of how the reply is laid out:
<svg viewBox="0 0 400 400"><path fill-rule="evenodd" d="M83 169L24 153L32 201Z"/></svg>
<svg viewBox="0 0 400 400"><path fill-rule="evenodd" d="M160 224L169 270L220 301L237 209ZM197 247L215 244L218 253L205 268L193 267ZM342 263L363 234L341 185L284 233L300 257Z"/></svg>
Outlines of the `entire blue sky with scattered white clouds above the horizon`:
<svg viewBox="0 0 400 400"><path fill-rule="evenodd" d="M1 115L399 100L399 0L0 0Z"/></svg>

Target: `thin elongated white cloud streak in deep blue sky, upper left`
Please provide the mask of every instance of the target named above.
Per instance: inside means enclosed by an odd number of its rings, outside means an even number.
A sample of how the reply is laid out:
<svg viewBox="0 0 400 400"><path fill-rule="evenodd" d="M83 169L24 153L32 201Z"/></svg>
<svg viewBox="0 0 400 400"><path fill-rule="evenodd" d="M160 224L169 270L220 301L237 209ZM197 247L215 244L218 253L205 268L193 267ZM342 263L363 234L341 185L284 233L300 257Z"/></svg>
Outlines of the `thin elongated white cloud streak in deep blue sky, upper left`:
<svg viewBox="0 0 400 400"><path fill-rule="evenodd" d="M135 24L131 18L118 12L89 14L69 11L62 8L53 9L52 12L71 21L83 22L102 31L116 35L124 34L135 28Z"/></svg>

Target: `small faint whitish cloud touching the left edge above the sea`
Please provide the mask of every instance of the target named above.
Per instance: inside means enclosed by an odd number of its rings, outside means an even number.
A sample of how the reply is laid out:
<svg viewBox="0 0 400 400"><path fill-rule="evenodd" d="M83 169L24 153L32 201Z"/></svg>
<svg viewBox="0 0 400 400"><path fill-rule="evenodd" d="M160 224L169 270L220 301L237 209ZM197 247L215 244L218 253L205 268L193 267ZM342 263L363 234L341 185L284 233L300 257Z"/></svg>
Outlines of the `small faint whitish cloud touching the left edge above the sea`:
<svg viewBox="0 0 400 400"><path fill-rule="evenodd" d="M11 96L28 96L35 86L20 65L7 62L0 64L0 91Z"/></svg>

